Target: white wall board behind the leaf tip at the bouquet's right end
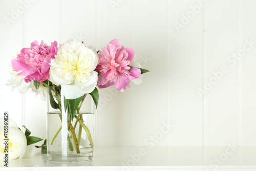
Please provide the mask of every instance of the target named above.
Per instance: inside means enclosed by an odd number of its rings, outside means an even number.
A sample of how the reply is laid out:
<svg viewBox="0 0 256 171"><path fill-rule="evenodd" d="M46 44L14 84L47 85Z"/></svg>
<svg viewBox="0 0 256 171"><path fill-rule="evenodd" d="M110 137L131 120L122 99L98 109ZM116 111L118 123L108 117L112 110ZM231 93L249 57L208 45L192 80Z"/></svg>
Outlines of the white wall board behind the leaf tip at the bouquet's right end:
<svg viewBox="0 0 256 171"><path fill-rule="evenodd" d="M167 134L159 132L167 121L167 1L134 1L134 8L135 50L151 59L145 66L151 72L133 88L134 145L166 145Z"/></svg>

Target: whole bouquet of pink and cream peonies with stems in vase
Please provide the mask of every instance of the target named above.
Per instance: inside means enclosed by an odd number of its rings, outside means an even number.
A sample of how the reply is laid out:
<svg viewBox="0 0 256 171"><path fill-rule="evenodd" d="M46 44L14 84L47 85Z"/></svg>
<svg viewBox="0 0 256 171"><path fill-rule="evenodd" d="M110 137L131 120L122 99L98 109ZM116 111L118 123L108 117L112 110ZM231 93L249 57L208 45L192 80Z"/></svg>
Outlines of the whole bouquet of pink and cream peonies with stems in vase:
<svg viewBox="0 0 256 171"><path fill-rule="evenodd" d="M52 108L62 114L70 114L67 119L67 129L71 134L69 138L73 139L76 153L79 154L81 137L80 133L76 135L74 131L77 123L86 131L93 147L90 130L83 123L82 115L79 115L81 103L90 94L97 108L99 93L96 87L103 89L114 85L116 90L122 91L130 88L132 79L148 72L130 66L133 59L134 50L121 46L119 39L110 41L97 52L79 40L68 40L59 46L56 41L47 45L44 41L38 44L35 40L30 48L23 48L11 61L13 77L7 85L13 89L19 87L21 93L31 89L41 94L42 99L49 93ZM57 89L59 87L61 91ZM76 123L72 125L74 118Z"/></svg>

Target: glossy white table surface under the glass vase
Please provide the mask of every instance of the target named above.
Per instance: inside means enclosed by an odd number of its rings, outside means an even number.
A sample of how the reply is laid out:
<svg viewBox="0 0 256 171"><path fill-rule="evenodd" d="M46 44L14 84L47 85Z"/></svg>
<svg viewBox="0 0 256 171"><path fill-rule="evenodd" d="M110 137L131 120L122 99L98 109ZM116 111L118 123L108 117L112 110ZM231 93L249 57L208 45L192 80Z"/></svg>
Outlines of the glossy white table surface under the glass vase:
<svg viewBox="0 0 256 171"><path fill-rule="evenodd" d="M142 153L143 152L143 153ZM256 170L254 147L95 147L93 160L57 163L36 149L0 170Z"/></svg>

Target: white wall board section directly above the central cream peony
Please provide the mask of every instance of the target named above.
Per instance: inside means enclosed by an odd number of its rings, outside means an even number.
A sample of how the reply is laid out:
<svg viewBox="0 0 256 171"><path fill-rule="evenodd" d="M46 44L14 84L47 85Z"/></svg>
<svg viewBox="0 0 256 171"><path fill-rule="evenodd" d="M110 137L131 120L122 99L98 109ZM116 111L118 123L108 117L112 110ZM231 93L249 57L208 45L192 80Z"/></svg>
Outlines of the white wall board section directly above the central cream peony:
<svg viewBox="0 0 256 171"><path fill-rule="evenodd" d="M62 43L79 39L96 47L96 1L65 0L61 4Z"/></svg>

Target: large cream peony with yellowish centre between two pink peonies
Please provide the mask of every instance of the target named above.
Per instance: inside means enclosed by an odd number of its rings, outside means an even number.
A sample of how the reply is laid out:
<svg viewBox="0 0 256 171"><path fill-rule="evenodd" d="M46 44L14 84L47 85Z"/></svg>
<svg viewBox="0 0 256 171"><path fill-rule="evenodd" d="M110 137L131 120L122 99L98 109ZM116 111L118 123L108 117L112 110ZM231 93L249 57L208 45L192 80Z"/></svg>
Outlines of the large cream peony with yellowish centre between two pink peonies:
<svg viewBox="0 0 256 171"><path fill-rule="evenodd" d="M61 85L66 99L75 99L91 93L98 81L95 68L97 54L79 40L72 40L61 46L51 59L50 78L55 85Z"/></svg>

